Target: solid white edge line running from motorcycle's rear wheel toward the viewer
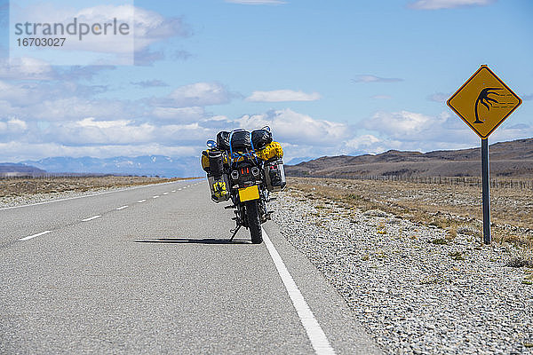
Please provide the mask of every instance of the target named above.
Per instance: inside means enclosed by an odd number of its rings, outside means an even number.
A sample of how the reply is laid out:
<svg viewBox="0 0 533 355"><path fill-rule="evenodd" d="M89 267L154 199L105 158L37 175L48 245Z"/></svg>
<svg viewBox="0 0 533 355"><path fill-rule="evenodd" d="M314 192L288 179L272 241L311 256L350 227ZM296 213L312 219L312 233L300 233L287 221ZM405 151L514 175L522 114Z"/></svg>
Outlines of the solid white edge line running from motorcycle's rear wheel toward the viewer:
<svg viewBox="0 0 533 355"><path fill-rule="evenodd" d="M306 328L307 337L311 341L314 351L319 355L335 354L335 351L331 347L330 341L328 341L328 338L324 334L322 327L320 327L320 324L318 324L318 321L314 318L314 314L307 305L304 296L302 296L298 286L296 285L296 282L294 282L292 276L290 276L287 266L285 266L283 263L282 256L280 256L277 250L274 248L274 244L272 244L272 241L270 241L270 238L268 238L267 232L265 232L262 227L261 230L263 231L263 240L265 241L268 252L274 261L275 268L282 278L283 285L285 285L285 288L287 289L287 293L289 294L290 300L292 301L292 304L298 313L298 317L302 322L302 326Z"/></svg>

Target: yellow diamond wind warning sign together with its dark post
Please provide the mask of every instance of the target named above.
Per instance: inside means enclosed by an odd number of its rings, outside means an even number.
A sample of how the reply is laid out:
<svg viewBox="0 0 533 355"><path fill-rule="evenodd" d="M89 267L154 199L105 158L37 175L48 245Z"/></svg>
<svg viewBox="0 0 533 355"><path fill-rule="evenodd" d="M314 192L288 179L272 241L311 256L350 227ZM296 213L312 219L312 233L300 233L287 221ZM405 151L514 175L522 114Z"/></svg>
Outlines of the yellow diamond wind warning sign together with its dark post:
<svg viewBox="0 0 533 355"><path fill-rule="evenodd" d="M521 99L489 67L483 65L446 103L481 138L483 241L490 244L488 138L521 105Z"/></svg>

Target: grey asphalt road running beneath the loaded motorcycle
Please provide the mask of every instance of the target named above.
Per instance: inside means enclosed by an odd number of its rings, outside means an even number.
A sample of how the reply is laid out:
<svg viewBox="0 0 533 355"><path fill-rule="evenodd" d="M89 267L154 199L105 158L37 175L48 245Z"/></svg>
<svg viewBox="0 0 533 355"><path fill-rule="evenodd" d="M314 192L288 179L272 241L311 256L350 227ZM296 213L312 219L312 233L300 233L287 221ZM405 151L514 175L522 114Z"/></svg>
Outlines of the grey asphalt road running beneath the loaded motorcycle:
<svg viewBox="0 0 533 355"><path fill-rule="evenodd" d="M0 209L0 353L379 353L274 223L228 243L231 217L204 180Z"/></svg>

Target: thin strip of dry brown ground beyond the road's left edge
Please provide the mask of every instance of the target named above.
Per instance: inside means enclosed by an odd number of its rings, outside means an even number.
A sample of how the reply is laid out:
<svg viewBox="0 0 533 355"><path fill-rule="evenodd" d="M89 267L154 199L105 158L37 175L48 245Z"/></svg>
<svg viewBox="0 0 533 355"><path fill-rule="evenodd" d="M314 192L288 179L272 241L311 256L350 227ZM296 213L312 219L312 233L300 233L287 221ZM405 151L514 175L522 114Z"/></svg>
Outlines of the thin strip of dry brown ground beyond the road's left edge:
<svg viewBox="0 0 533 355"><path fill-rule="evenodd" d="M31 195L35 193L85 192L108 187L149 185L180 180L162 177L52 177L0 178L0 197Z"/></svg>

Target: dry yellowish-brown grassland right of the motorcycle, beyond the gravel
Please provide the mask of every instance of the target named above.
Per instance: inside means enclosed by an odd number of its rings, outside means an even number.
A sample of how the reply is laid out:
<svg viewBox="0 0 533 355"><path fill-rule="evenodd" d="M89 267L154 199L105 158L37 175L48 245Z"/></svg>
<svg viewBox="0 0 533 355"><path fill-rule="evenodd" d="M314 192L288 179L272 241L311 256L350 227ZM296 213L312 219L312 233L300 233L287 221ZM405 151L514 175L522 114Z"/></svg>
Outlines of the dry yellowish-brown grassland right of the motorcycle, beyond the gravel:
<svg viewBox="0 0 533 355"><path fill-rule="evenodd" d="M346 209L381 210L424 225L481 241L481 189L476 186L431 185L402 181L350 180L290 177L295 194L336 201ZM497 188L490 190L493 240L533 249L533 191Z"/></svg>

